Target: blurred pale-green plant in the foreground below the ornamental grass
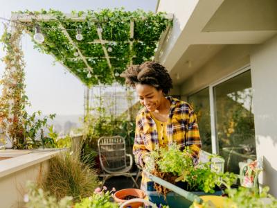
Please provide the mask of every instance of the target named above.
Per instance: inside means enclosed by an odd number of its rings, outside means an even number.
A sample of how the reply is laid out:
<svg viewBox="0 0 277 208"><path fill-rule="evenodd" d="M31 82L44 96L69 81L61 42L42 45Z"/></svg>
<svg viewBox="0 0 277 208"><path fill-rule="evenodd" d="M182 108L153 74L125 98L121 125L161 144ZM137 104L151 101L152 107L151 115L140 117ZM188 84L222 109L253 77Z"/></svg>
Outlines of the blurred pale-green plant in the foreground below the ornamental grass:
<svg viewBox="0 0 277 208"><path fill-rule="evenodd" d="M24 196L27 208L70 208L72 197L65 196L58 201L54 196L50 196L48 191L39 189L33 182L27 182L28 193Z"/></svg>

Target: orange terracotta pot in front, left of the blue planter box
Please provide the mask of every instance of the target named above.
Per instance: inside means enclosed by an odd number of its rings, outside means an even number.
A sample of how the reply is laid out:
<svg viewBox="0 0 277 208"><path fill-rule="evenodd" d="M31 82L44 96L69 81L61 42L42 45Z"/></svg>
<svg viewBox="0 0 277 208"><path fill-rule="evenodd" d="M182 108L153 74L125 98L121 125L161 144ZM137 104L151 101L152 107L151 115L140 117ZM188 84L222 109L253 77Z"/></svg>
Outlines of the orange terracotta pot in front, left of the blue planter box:
<svg viewBox="0 0 277 208"><path fill-rule="evenodd" d="M141 189L121 189L114 193L114 200L117 203L123 203L127 200L123 200L126 196L136 196L137 198L144 198L144 193ZM139 208L143 207L143 202L133 202L132 204L127 205L126 207Z"/></svg>

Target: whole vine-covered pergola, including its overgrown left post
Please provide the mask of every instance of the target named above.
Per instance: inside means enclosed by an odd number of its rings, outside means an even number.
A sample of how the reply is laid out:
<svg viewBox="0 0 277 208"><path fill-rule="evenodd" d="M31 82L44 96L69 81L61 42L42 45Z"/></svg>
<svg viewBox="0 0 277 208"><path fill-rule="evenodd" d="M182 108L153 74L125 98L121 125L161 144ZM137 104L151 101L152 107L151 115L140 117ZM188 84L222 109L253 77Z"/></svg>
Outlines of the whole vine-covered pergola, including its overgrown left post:
<svg viewBox="0 0 277 208"><path fill-rule="evenodd" d="M23 123L26 123L24 54L20 38L25 31L34 40L35 48L53 55L67 70L84 85L111 85L123 83L120 78L130 64L157 60L163 42L172 25L173 15L154 14L122 9L95 12L60 11L14 12L10 28L6 28L2 42L6 49L6 63L1 83L0 101L1 135L7 146L24 148Z"/></svg>

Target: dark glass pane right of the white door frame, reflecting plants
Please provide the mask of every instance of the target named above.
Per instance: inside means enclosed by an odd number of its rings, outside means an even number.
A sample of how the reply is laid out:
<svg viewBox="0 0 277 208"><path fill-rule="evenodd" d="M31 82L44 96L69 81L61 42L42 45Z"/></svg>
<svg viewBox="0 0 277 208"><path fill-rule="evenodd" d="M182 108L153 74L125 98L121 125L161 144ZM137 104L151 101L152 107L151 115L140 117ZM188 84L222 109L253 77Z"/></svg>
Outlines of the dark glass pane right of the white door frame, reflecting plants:
<svg viewBox="0 0 277 208"><path fill-rule="evenodd" d="M246 71L214 87L216 132L225 170L239 173L239 163L256 159L251 73Z"/></svg>

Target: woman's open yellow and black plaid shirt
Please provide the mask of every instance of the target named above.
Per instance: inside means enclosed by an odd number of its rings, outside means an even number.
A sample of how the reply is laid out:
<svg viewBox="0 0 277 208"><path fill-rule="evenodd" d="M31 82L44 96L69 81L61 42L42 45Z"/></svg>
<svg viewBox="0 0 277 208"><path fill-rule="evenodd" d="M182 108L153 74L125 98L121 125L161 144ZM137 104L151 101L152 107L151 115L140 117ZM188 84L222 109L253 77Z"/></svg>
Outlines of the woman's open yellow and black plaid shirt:
<svg viewBox="0 0 277 208"><path fill-rule="evenodd" d="M189 146L193 152L193 163L197 164L202 143L196 115L188 103L170 96L167 98L171 103L166 129L168 145L176 143L181 146L181 150ZM146 107L143 107L136 116L136 134L133 146L136 163L143 167L143 157L154 150L156 146L159 146L157 125L152 119L150 112ZM143 173L141 181L141 189L143 191L146 190L147 181L148 178Z"/></svg>

